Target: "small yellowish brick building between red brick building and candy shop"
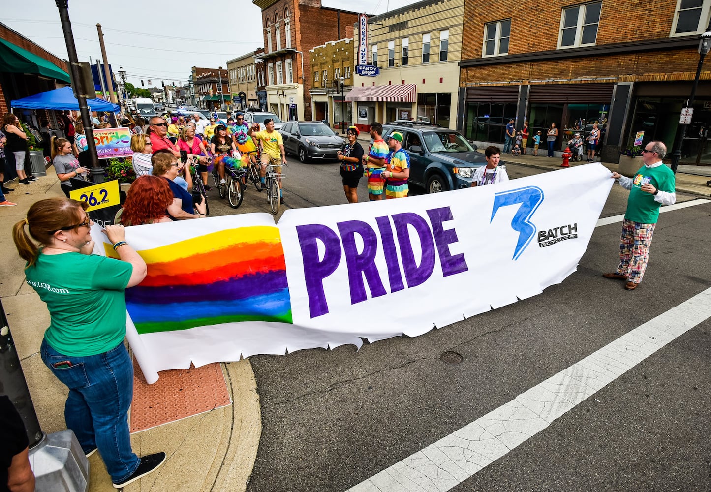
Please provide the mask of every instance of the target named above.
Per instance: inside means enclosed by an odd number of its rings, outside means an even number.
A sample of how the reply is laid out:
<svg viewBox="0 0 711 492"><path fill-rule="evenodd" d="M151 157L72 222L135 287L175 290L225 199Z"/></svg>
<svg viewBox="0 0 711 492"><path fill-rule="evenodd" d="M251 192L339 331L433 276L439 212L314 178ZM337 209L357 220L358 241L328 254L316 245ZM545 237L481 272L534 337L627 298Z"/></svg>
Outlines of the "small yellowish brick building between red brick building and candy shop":
<svg viewBox="0 0 711 492"><path fill-rule="evenodd" d="M343 99L353 87L354 50L351 38L328 41L309 50L311 112L314 120L326 120L332 128L340 128L341 122L348 126L353 121L351 103Z"/></svg>

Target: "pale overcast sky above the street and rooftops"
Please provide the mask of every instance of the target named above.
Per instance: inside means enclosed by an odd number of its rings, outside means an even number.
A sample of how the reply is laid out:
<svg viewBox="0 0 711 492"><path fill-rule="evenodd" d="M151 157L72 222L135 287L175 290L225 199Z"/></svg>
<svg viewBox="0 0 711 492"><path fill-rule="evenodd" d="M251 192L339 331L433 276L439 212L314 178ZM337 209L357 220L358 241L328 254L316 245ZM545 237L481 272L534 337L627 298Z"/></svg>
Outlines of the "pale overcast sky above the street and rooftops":
<svg viewBox="0 0 711 492"><path fill-rule="evenodd" d="M322 0L328 7L383 14L419 0ZM53 0L3 1L0 21L59 58L67 49ZM119 66L138 87L166 83L185 84L191 67L226 68L227 60L264 45L262 14L250 0L225 2L218 13L214 2L172 0L119 4L97 0L70 0L77 55L93 63L101 58L96 24L100 23L109 63ZM201 20L201 19L206 19ZM303 28L303 26L302 26ZM185 41L183 41L185 40ZM328 41L328 40L324 40Z"/></svg>

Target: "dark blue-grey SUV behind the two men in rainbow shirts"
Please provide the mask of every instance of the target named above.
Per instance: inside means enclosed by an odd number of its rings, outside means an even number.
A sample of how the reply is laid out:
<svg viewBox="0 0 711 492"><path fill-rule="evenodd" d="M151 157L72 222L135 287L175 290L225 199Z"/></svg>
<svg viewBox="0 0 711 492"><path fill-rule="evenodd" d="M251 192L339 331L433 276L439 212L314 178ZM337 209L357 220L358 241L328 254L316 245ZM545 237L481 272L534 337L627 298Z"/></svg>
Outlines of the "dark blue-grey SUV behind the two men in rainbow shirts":
<svg viewBox="0 0 711 492"><path fill-rule="evenodd" d="M402 133L402 148L410 154L410 179L427 193L469 188L474 169L486 166L484 156L456 130L424 125L393 125L392 132Z"/></svg>

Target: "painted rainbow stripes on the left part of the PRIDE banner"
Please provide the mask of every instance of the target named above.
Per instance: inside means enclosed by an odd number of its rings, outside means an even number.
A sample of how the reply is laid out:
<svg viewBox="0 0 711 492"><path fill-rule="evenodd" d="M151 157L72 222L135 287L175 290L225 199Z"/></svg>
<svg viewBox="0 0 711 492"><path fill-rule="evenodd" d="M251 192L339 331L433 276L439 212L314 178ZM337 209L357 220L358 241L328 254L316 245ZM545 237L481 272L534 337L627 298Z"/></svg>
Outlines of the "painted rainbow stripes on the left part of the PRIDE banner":
<svg viewBox="0 0 711 492"><path fill-rule="evenodd" d="M279 228L221 230L139 254L148 275L126 290L139 333L235 321L292 323Z"/></svg>

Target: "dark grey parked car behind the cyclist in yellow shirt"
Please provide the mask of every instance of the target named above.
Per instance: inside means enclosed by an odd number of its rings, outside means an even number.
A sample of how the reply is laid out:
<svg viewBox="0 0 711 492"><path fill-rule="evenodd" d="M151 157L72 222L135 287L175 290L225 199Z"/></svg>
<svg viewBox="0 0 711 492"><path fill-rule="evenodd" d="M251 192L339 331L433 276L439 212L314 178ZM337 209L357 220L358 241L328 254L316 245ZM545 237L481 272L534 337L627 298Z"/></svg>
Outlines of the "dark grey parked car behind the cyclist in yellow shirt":
<svg viewBox="0 0 711 492"><path fill-rule="evenodd" d="M343 137L321 122L286 122L279 133L284 139L284 151L298 156L301 162L337 159L338 151L346 144Z"/></svg>

